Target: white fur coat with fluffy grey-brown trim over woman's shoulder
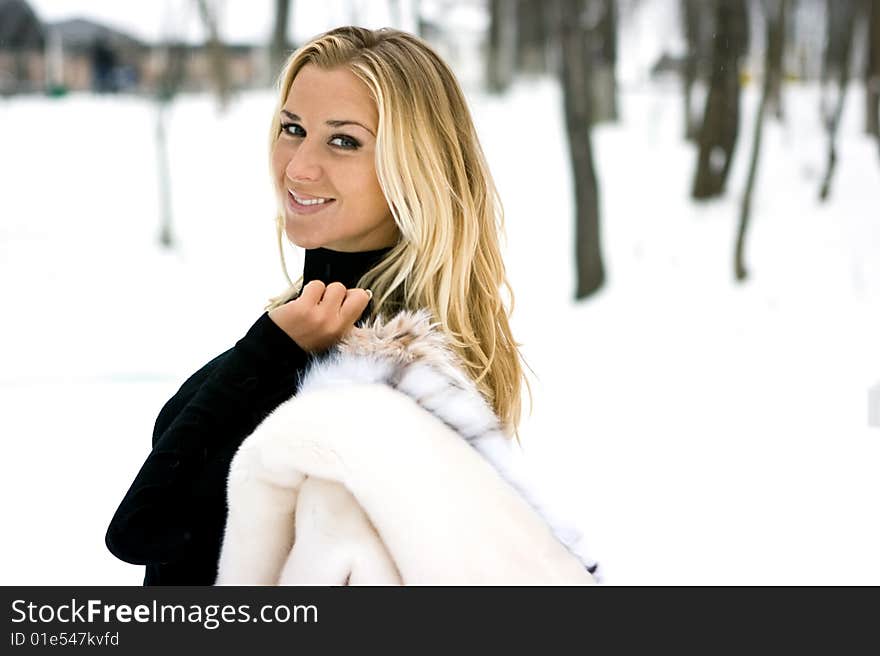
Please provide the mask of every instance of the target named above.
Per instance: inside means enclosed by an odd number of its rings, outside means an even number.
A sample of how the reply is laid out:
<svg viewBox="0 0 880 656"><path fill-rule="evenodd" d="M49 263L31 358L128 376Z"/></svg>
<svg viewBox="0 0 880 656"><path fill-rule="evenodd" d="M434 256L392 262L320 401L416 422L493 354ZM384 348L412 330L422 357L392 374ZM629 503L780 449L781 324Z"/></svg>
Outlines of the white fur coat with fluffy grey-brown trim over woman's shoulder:
<svg viewBox="0 0 880 656"><path fill-rule="evenodd" d="M217 584L584 584L429 315L356 328L241 445Z"/></svg>

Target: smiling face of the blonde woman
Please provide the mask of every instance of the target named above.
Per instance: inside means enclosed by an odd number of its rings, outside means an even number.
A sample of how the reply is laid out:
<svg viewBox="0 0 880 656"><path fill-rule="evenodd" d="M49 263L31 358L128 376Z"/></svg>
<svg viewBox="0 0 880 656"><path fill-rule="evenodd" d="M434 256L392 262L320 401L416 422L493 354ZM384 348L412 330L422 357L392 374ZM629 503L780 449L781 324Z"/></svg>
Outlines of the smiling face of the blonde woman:
<svg viewBox="0 0 880 656"><path fill-rule="evenodd" d="M272 173L287 238L344 252L394 245L397 226L376 177L379 116L366 85L346 68L307 64L280 119Z"/></svg>

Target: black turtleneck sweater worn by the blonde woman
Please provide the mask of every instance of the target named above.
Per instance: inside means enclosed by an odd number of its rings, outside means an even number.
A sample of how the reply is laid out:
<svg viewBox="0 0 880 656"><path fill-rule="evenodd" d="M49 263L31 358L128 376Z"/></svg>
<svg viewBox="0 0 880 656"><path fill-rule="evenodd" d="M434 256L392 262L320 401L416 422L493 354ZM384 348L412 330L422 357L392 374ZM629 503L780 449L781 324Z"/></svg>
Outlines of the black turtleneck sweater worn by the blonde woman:
<svg viewBox="0 0 880 656"><path fill-rule="evenodd" d="M321 280L355 287L389 250L307 250L303 285ZM162 408L153 449L105 538L117 558L146 565L144 585L214 583L226 522L229 463L245 437L296 392L309 358L264 313L234 347L190 376Z"/></svg>

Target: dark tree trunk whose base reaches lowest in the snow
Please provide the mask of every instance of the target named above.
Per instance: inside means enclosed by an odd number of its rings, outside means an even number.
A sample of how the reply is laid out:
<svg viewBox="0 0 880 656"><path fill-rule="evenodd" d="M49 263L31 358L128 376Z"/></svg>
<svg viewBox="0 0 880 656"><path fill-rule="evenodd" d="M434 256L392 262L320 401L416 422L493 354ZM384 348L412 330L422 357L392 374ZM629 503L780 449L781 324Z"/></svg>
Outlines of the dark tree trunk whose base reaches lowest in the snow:
<svg viewBox="0 0 880 656"><path fill-rule="evenodd" d="M605 282L599 242L599 185L590 138L592 57L584 25L584 0L559 0L559 3L562 89L577 212L575 298L580 299L597 291Z"/></svg>

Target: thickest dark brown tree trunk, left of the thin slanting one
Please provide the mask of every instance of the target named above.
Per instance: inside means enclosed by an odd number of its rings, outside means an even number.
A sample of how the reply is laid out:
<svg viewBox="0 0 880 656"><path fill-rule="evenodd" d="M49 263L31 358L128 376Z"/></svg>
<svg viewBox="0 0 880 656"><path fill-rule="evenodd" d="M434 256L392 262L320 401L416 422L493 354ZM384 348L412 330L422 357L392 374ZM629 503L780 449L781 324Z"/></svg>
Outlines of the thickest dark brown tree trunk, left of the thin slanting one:
<svg viewBox="0 0 880 656"><path fill-rule="evenodd" d="M739 135L739 62L748 44L744 0L717 0L712 80L700 129L700 153L692 195L724 192Z"/></svg>

